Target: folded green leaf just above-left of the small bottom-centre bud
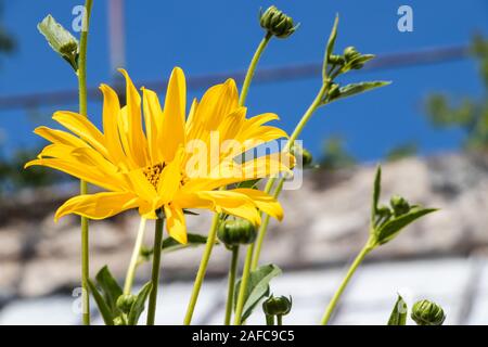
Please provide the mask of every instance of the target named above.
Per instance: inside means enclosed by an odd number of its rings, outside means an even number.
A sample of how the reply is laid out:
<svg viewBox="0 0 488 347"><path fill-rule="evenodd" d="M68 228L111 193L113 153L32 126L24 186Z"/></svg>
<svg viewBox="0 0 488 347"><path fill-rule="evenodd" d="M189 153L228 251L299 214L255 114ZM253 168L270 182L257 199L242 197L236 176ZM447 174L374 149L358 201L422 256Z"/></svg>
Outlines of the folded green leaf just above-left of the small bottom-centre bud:
<svg viewBox="0 0 488 347"><path fill-rule="evenodd" d="M281 269L274 264L264 265L249 273L247 288L244 293L244 307L242 310L242 321L245 321L259 301L269 295L269 282L281 274ZM237 303L241 280L235 283L234 310Z"/></svg>

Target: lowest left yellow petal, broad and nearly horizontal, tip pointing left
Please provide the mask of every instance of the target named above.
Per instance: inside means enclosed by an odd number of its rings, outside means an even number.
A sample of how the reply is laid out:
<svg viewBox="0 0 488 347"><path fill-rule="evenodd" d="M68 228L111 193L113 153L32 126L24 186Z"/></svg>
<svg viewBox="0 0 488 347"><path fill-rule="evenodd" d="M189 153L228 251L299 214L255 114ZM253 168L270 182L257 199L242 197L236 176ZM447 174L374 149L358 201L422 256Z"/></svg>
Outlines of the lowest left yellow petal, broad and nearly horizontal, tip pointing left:
<svg viewBox="0 0 488 347"><path fill-rule="evenodd" d="M64 203L54 219L76 214L91 219L105 219L138 206L138 197L130 192L107 192L78 195Z"/></svg>

